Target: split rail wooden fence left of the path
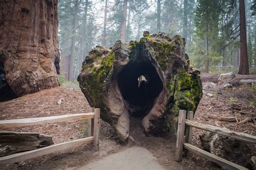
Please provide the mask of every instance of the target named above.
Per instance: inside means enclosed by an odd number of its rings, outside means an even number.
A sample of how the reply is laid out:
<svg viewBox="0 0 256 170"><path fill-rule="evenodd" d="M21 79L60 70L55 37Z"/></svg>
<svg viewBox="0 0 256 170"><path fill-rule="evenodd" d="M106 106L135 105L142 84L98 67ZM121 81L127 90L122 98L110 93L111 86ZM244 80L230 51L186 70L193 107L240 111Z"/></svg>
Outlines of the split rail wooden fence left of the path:
<svg viewBox="0 0 256 170"><path fill-rule="evenodd" d="M59 123L67 121L78 121L82 119L89 119L88 137L67 141L60 144L55 144L37 150L26 151L16 154L11 154L5 157L0 157L0 165L12 164L27 159L36 158L45 154L63 151L72 147L81 146L84 144L93 143L93 150L99 151L99 121L100 109L91 108L89 113L49 116L49 117L36 117L24 119L11 119L0 121L0 129L17 128L22 126L42 125L49 123Z"/></svg>

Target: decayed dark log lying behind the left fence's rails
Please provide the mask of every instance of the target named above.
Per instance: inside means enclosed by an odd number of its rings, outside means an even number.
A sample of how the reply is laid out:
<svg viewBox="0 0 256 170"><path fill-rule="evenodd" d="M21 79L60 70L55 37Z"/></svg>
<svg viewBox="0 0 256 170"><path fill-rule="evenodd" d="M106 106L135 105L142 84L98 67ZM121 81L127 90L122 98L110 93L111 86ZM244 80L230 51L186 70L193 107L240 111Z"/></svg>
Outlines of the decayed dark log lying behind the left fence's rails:
<svg viewBox="0 0 256 170"><path fill-rule="evenodd" d="M0 131L0 157L52 144L52 136L45 134Z"/></svg>

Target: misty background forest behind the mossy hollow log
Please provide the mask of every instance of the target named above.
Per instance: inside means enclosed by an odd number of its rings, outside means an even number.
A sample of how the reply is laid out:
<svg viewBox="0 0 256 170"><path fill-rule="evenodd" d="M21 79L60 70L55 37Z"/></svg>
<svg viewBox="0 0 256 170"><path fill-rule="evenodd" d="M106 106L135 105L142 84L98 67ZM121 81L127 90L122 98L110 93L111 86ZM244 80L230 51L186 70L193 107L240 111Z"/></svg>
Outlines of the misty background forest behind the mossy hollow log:
<svg viewBox="0 0 256 170"><path fill-rule="evenodd" d="M241 22L246 23L248 67L254 73L256 4L255 0L245 1L246 20L242 20L239 3L235 0L60 0L60 80L76 80L82 62L93 47L112 47L117 40L139 40L146 30L150 34L161 31L185 38L190 63L201 72L237 73Z"/></svg>

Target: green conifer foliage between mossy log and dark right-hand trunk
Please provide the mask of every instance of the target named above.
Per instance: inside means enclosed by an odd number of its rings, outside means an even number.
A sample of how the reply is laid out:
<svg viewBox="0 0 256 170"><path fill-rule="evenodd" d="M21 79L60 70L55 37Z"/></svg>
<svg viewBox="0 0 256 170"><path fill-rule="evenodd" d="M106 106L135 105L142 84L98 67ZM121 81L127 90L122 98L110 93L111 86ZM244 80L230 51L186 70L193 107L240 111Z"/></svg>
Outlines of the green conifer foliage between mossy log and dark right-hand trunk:
<svg viewBox="0 0 256 170"><path fill-rule="evenodd" d="M195 63L200 69L206 67L206 56L208 56L210 67L215 66L216 63L221 61L220 54L215 50L219 32L219 13L218 1L198 1L194 17L194 24L196 26L195 36L197 39L193 48L192 63ZM206 42L208 43L206 44ZM207 48L209 49L208 52ZM196 59L198 55L199 59ZM203 61L205 60L204 63L199 63L202 59ZM195 60L196 62L193 62Z"/></svg>

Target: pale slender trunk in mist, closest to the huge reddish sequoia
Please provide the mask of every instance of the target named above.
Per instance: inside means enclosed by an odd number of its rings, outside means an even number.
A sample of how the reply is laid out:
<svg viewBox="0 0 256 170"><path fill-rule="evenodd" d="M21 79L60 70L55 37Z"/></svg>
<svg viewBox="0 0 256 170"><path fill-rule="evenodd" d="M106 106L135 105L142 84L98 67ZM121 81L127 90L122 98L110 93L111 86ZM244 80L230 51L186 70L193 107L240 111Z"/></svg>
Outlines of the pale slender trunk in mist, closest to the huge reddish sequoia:
<svg viewBox="0 0 256 170"><path fill-rule="evenodd" d="M78 13L78 0L76 0L75 4L75 13L74 13L74 22L73 22L73 31L72 31L72 38L71 38L71 53L70 53L70 59L69 59L69 76L68 80L73 81L73 70L74 70L74 56L75 56L75 34L77 30L77 13Z"/></svg>

